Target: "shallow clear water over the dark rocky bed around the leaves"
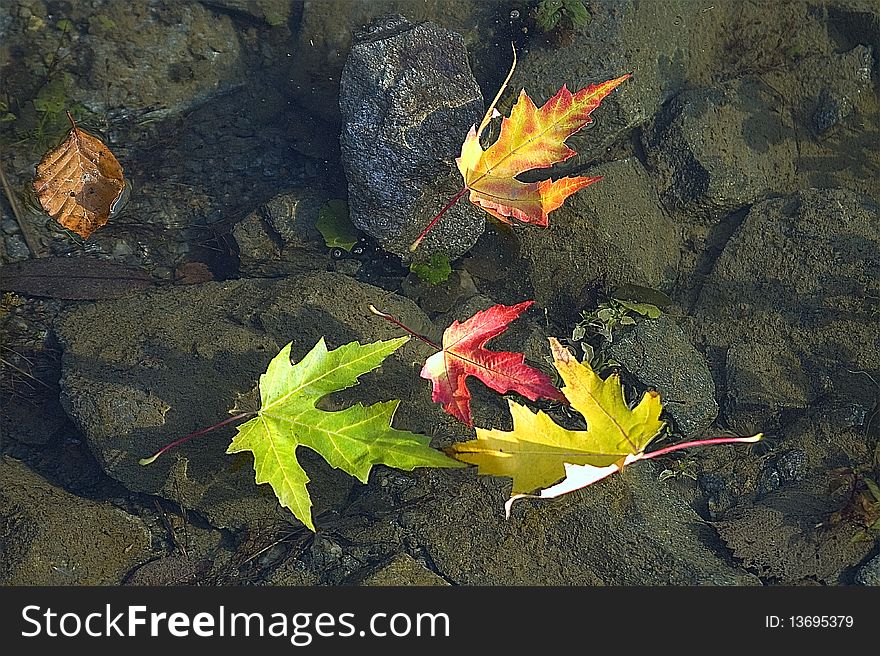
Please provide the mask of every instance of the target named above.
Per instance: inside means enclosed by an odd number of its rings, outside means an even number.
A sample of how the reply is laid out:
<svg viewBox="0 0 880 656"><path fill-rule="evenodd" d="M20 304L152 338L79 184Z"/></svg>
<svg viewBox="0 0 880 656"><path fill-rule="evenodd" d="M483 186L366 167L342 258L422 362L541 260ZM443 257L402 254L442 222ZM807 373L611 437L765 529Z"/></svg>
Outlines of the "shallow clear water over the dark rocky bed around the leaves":
<svg viewBox="0 0 880 656"><path fill-rule="evenodd" d="M526 0L4 3L0 475L41 492L0 504L8 521L38 526L11 538L3 582L118 584L174 558L149 580L346 584L381 579L404 559L412 566L394 570L402 584L876 584L880 499L866 481L880 477L880 13L868 0L586 4L587 23L563 15L543 30ZM348 82L348 106L387 105L376 143L400 125L428 135L410 150L398 144L389 165L451 147L432 164L440 173L379 194L398 199L389 214L402 232L351 225L357 245L341 252L316 228L334 200L348 202L354 224L378 225L364 209L378 192L340 148L353 120L340 111L340 80L353 33L389 13L460 35L458 61L484 102L513 41L505 112L521 88L540 104L563 83L633 73L568 142L577 157L542 172L602 181L547 228L481 231L484 214L460 201L443 224L447 250L472 245L452 252L439 285L410 271L400 243L461 184L457 144L482 110L419 105L452 91L401 99L389 83L388 95L352 99ZM415 76L418 90L436 64L424 53L448 54L454 40L389 56L387 79ZM450 61L437 75L458 70ZM34 166L69 128L67 110L104 140L130 186L88 239L46 216L32 190ZM444 252L442 240L426 242L425 257L432 250ZM34 293L18 281L33 282L26 263L37 257L118 267L41 273ZM149 276L149 290L131 269ZM615 296L623 288L630 295ZM612 339L607 326L572 338L615 298L669 298L671 327L657 337L630 312ZM339 346L397 334L369 315L371 303L437 339L454 319L527 299L535 308L495 348L552 372L547 336L579 353L584 342L622 369L630 398L661 391L672 439L768 439L637 463L562 499L521 502L511 520L507 479L377 467L361 485L315 457L306 469L318 537L253 483L250 456L225 455L232 432L162 468L135 464L222 419L288 341L296 359L319 337ZM407 348L364 397L352 389L334 402L400 398L395 421L435 446L472 438L418 377L429 351ZM509 428L505 400L470 387L478 425ZM98 524L40 521L39 499L56 488ZM111 527L100 549L128 549L125 558L98 566L106 554L83 537L95 525ZM121 545L132 534L135 546ZM788 550L768 546L777 534ZM53 543L68 546L35 569L32 545Z"/></svg>

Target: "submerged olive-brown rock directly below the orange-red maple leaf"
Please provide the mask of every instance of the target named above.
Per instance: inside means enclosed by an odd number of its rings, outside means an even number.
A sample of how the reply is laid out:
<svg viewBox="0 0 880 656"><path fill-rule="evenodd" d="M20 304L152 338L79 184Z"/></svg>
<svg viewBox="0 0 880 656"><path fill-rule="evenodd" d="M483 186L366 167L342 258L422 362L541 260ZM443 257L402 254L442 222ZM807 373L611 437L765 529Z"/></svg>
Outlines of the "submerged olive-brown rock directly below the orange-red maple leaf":
<svg viewBox="0 0 880 656"><path fill-rule="evenodd" d="M678 267L678 228L638 160L586 174L603 178L553 212L549 227L521 233L534 298L554 312L577 308L583 290L597 281L667 288Z"/></svg>

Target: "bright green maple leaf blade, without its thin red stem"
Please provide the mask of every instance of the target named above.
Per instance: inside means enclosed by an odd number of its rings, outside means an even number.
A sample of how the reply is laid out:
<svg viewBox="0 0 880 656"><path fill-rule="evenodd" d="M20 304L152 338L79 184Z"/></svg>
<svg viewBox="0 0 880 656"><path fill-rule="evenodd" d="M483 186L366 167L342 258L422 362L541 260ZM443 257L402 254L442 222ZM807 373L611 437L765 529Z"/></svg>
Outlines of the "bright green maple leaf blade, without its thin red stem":
<svg viewBox="0 0 880 656"><path fill-rule="evenodd" d="M257 416L238 427L226 453L251 451L257 483L271 485L281 505L313 531L309 477L296 459L299 446L362 483L378 464L407 471L463 466L432 449L427 436L391 427L400 401L358 403L338 412L315 407L328 394L357 385L359 376L381 365L408 339L350 342L328 351L322 337L297 364L290 363L288 344L260 376L262 407Z"/></svg>

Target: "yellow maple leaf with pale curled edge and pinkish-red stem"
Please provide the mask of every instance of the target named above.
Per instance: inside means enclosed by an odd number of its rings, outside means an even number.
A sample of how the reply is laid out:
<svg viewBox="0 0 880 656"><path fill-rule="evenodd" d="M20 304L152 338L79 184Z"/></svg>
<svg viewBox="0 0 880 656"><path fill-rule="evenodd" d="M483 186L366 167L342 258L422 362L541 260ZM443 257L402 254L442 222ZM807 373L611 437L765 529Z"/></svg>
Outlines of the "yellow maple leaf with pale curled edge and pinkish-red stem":
<svg viewBox="0 0 880 656"><path fill-rule="evenodd" d="M565 386L562 393L587 422L587 430L563 428L548 415L532 412L508 401L513 430L477 428L477 438L452 445L454 458L477 465L481 474L513 479L506 515L516 499L526 496L553 498L591 485L637 460L703 444L757 442L762 435L725 437L676 444L645 453L665 422L660 395L649 390L630 407L623 396L620 377L600 378L562 344L550 338L553 366ZM540 490L538 494L530 494Z"/></svg>

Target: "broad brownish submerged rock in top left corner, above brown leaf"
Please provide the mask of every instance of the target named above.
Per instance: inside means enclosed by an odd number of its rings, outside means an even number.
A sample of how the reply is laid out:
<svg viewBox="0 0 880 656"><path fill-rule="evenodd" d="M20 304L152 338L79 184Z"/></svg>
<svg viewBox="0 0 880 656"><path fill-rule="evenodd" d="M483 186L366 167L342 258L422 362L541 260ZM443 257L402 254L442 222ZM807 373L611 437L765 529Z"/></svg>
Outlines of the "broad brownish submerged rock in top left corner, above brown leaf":
<svg viewBox="0 0 880 656"><path fill-rule="evenodd" d="M4 66L4 74L12 72L9 89L22 100L42 94L43 100L71 109L80 104L103 118L121 107L176 114L243 70L232 20L197 2L47 5L28 0L0 9L8 29L4 41L21 49L17 66ZM49 118L44 127L54 123Z"/></svg>

